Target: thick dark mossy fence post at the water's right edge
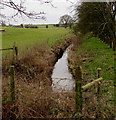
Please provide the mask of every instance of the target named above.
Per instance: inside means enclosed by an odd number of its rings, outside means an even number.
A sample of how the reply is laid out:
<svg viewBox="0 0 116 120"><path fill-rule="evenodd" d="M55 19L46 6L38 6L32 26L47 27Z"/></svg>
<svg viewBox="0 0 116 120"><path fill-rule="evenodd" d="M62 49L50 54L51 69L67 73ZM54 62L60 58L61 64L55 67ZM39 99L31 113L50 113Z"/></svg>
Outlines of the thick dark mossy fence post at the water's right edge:
<svg viewBox="0 0 116 120"><path fill-rule="evenodd" d="M75 92L76 92L76 111L81 113L82 112L82 71L81 67L78 66L76 69L76 86L75 86Z"/></svg>

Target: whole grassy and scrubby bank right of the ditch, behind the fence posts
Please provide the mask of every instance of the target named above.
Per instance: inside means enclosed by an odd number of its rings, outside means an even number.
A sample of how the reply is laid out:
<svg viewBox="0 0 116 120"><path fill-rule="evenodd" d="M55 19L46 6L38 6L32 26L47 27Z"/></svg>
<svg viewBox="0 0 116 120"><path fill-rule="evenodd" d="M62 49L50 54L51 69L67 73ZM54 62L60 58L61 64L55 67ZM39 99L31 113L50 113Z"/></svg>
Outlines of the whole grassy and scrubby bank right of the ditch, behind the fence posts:
<svg viewBox="0 0 116 120"><path fill-rule="evenodd" d="M78 41L78 40L77 40ZM76 43L76 42L75 42ZM76 45L74 45L76 47ZM83 85L97 79L97 68L101 68L100 113L97 111L95 87L83 93L83 113L87 117L111 118L114 116L114 52L96 37L83 38L69 58L70 68L75 76L75 65L82 66Z"/></svg>

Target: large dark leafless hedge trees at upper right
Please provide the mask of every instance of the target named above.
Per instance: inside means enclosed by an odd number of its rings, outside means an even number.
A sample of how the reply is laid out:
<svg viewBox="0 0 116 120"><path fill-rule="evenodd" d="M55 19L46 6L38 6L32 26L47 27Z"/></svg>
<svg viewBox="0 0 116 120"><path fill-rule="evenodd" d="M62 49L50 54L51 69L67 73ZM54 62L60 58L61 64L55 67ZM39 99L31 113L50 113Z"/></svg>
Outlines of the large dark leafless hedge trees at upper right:
<svg viewBox="0 0 116 120"><path fill-rule="evenodd" d="M115 42L115 18L112 3L83 2L76 8L75 17L78 18L78 23L73 28L75 33L93 32L110 47L114 47L112 43Z"/></svg>

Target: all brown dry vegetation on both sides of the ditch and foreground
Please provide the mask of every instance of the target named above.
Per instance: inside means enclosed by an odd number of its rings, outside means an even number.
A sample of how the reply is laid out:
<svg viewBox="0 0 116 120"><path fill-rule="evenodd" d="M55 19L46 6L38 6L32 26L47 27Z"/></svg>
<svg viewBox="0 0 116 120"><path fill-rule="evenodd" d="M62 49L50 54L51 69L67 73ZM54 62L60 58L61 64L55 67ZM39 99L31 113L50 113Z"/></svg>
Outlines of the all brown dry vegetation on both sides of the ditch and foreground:
<svg viewBox="0 0 116 120"><path fill-rule="evenodd" d="M98 104L94 87L83 93L81 115L75 110L75 92L52 92L53 66L70 41L73 43L73 48L69 55L69 66L75 76L75 66L86 61L85 58L88 59L87 56L77 57L75 53L83 41L82 35L67 39L64 43L52 48L47 45L46 47L45 45L44 47L35 46L13 63L15 65L15 104L12 104L9 98L9 66L12 61L3 62L3 119L9 119L13 114L17 118L112 119L111 106L104 104L107 96L102 96ZM93 77L95 76L85 75L83 71L83 84L92 81Z"/></svg>

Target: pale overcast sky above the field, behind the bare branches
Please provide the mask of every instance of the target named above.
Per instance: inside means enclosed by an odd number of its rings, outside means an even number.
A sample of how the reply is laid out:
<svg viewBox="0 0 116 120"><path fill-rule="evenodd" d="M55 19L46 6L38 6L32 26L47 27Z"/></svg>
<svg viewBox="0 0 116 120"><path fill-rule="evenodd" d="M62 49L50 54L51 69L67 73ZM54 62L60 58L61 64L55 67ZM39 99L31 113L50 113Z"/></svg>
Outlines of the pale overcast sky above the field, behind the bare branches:
<svg viewBox="0 0 116 120"><path fill-rule="evenodd" d="M19 0L15 0L19 1ZM76 3L79 0L70 0L71 2ZM9 20L9 24L57 24L59 23L59 18L62 15L69 14L73 15L71 11L74 9L74 7L71 7L72 4L70 2L67 2L66 0L53 0L52 3L56 8L52 7L50 4L40 4L37 0L27 0L25 5L27 7L28 11L36 11L36 12L42 12L44 11L46 20L30 20L25 17L16 17L15 21L13 19ZM3 10L4 14L6 15L12 15L15 13L14 10L11 10L9 8Z"/></svg>

